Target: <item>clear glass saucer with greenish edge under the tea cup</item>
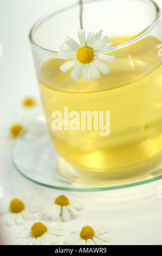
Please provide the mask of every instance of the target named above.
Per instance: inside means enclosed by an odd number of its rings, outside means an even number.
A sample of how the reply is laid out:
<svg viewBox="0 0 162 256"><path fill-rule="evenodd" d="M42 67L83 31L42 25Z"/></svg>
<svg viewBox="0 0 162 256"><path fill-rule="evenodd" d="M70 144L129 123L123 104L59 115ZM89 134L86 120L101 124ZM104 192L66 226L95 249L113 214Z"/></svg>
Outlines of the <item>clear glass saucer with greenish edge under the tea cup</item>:
<svg viewBox="0 0 162 256"><path fill-rule="evenodd" d="M23 138L17 139L12 150L12 163L28 180L38 185L66 191L117 190L162 179L162 168L131 179L108 181L85 178L76 172L72 164L59 156L48 133L42 136L27 133Z"/></svg>

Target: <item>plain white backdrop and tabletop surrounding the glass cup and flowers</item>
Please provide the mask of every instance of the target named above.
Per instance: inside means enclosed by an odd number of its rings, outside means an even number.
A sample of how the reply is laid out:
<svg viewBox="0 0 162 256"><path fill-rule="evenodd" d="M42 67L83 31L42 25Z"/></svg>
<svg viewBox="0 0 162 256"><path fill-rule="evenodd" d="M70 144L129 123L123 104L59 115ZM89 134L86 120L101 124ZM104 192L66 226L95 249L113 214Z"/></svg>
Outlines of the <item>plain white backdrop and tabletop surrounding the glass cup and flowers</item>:
<svg viewBox="0 0 162 256"><path fill-rule="evenodd" d="M0 117L3 131L12 108L24 96L39 97L36 75L31 56L28 33L33 23L49 10L70 0L0 0ZM156 1L162 8L162 1ZM10 150L0 147L0 185L3 199L11 200L21 194L33 195L48 202L62 194L25 180L11 164ZM78 198L85 204L82 216L66 223L70 233L73 227L83 227L96 222L112 228L111 245L162 245L162 199L157 198L162 180L142 187L111 192L65 192L69 198ZM3 242L15 245L17 228L2 228ZM62 241L60 242L62 244Z"/></svg>

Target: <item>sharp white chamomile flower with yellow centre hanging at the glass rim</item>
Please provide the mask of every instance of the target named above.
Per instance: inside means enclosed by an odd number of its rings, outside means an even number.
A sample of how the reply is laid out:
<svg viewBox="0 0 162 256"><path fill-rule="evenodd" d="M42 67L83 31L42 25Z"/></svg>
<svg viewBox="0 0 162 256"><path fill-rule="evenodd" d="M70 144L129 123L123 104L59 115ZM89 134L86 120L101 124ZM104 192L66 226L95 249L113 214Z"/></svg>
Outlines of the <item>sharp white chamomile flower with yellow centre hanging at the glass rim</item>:
<svg viewBox="0 0 162 256"><path fill-rule="evenodd" d="M100 60L106 62L114 62L114 56L108 56L102 53L108 52L113 43L108 44L108 37L102 35L102 29L96 34L89 32L86 38L85 31L79 29L78 38L80 44L74 39L66 37L60 46L59 58L60 59L72 59L69 62L63 64L60 69L63 72L67 72L73 69L72 78L77 80L82 70L83 80L90 81L90 75L93 78L99 78L99 70L103 74L108 74L109 68Z"/></svg>

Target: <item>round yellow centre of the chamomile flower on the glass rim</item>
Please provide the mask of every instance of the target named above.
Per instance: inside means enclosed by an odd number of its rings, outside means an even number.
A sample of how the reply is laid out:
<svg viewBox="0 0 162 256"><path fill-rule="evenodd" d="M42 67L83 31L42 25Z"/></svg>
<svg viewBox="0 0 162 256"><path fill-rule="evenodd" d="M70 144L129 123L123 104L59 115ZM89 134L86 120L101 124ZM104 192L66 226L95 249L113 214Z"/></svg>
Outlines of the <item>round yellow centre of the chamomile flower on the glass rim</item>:
<svg viewBox="0 0 162 256"><path fill-rule="evenodd" d="M77 60L82 64L88 64L94 59L94 51L92 48L85 46L81 47L76 54Z"/></svg>

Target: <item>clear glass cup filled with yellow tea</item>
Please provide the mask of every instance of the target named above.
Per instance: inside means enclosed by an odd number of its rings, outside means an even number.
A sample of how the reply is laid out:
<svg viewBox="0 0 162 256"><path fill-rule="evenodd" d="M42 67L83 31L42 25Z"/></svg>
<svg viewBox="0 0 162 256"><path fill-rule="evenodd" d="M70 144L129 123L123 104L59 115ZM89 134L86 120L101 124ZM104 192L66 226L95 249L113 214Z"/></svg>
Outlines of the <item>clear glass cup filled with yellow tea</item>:
<svg viewBox="0 0 162 256"><path fill-rule="evenodd" d="M74 81L63 73L67 60L57 52L62 40L77 39L80 5L70 4L38 20L30 32L31 48L44 112L56 151L82 175L126 179L155 170L162 151L162 30L160 10L151 0L88 0L83 28L103 29L115 56L108 75ZM56 130L52 113L110 111L110 134L100 131ZM64 120L64 119L63 119ZM69 118L70 121L70 118Z"/></svg>

